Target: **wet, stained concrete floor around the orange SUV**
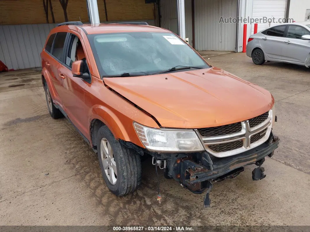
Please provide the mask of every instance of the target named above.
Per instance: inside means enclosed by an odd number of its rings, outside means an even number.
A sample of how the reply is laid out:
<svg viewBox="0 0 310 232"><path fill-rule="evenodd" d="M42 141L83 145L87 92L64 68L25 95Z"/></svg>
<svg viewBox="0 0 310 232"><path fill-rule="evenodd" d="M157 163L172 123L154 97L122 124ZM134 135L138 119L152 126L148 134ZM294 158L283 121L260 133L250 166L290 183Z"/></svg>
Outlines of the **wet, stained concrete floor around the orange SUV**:
<svg viewBox="0 0 310 232"><path fill-rule="evenodd" d="M40 72L0 74L0 225L310 225L310 69L254 65L241 53L201 54L214 66L268 89L276 99L280 146L251 171L216 183L212 207L143 162L142 186L116 197L97 157L66 119L47 111ZM208 59L210 58L210 59ZM48 175L47 175L48 173Z"/></svg>

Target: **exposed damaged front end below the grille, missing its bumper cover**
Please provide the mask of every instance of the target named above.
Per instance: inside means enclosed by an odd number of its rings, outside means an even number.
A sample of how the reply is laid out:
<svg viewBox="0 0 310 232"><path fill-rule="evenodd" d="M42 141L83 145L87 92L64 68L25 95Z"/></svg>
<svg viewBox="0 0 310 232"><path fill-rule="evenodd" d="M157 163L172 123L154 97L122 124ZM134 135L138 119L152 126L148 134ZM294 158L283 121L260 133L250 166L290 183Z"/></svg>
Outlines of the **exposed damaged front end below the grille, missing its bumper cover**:
<svg viewBox="0 0 310 232"><path fill-rule="evenodd" d="M129 145L125 142L123 144ZM266 177L261 165L266 156L273 155L278 144L279 138L271 132L268 140L258 147L223 158L215 157L207 151L195 153L144 152L153 156L154 165L164 169L165 177L175 179L184 188L195 194L206 193L204 198L204 207L206 208L210 207L209 193L213 183L236 177L244 171L244 166L250 164L258 166L252 172L253 180L261 180Z"/></svg>

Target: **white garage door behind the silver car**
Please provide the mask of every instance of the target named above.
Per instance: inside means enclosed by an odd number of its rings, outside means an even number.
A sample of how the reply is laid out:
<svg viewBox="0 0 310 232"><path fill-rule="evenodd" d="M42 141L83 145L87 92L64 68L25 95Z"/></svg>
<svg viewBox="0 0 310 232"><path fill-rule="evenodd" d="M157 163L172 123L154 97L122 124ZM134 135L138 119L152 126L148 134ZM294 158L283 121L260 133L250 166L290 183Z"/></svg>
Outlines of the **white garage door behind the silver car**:
<svg viewBox="0 0 310 232"><path fill-rule="evenodd" d="M263 19L263 17L275 18L275 22L285 17L286 0L253 0L252 18ZM276 25L279 23L271 23ZM269 23L259 23L258 31L269 27ZM252 24L251 34L254 33L254 24Z"/></svg>

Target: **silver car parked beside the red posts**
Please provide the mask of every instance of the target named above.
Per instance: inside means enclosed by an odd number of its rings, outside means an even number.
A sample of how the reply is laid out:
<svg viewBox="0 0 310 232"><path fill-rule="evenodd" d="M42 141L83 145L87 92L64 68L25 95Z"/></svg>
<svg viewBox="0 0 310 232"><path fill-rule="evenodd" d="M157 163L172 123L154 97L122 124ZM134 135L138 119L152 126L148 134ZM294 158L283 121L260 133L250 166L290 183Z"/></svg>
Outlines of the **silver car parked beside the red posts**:
<svg viewBox="0 0 310 232"><path fill-rule="evenodd" d="M309 67L310 21L272 26L251 35L246 55L255 64L278 61Z"/></svg>

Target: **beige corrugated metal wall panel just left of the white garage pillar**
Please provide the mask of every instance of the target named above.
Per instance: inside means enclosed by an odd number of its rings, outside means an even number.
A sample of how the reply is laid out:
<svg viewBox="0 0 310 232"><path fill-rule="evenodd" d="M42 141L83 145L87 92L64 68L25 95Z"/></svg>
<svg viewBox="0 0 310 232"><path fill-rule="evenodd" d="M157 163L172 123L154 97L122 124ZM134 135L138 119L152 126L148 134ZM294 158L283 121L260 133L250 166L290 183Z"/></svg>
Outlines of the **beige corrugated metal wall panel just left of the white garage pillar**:
<svg viewBox="0 0 310 232"><path fill-rule="evenodd" d="M219 23L237 17L237 0L195 0L196 50L235 51L237 25Z"/></svg>

